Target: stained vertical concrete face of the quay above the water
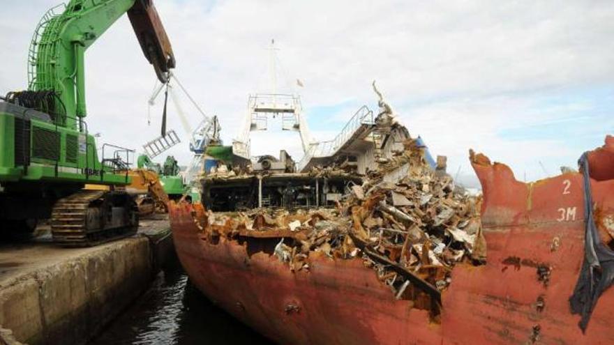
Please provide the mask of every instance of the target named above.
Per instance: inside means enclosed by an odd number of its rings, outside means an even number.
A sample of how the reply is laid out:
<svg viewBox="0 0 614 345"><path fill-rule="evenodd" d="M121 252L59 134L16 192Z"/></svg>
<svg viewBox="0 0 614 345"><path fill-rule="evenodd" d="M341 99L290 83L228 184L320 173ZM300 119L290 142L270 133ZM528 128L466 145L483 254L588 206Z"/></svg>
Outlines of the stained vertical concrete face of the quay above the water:
<svg viewBox="0 0 614 345"><path fill-rule="evenodd" d="M31 345L85 344L149 286L152 258L128 238L22 275L0 290L0 325Z"/></svg>

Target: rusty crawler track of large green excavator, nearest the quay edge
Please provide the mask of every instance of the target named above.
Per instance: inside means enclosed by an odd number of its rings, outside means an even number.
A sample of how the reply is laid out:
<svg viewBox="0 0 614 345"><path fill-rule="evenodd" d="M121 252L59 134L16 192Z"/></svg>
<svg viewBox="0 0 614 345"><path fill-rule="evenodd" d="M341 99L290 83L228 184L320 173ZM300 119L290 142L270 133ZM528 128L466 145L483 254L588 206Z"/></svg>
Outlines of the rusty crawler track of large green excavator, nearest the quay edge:
<svg viewBox="0 0 614 345"><path fill-rule="evenodd" d="M126 192L81 190L54 205L51 231L54 243L89 247L132 236L139 211Z"/></svg>

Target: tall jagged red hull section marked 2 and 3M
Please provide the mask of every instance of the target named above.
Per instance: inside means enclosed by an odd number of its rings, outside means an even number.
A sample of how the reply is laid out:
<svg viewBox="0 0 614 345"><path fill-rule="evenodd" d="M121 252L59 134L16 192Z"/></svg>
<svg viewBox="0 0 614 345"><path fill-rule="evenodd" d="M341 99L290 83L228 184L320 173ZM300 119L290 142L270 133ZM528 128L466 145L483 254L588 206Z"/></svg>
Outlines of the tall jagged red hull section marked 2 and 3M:
<svg viewBox="0 0 614 345"><path fill-rule="evenodd" d="M589 155L598 227L614 220L614 141ZM447 344L613 344L614 289L599 298L586 333L569 297L584 258L583 176L522 183L478 156L488 263L458 266L443 296ZM611 177L610 177L611 178ZM605 230L605 229L604 229ZM539 273L538 273L539 270Z"/></svg>

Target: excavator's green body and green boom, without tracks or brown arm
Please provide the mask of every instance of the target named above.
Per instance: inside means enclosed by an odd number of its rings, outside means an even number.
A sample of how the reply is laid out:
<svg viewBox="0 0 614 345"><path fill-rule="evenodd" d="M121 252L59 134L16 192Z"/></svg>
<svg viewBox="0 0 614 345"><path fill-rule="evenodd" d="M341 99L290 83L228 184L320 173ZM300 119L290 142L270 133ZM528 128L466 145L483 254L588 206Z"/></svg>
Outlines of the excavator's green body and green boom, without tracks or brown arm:
<svg viewBox="0 0 614 345"><path fill-rule="evenodd" d="M0 102L0 219L50 215L55 200L87 183L128 185L126 172L105 158L126 149L89 135L84 53L135 0L71 0L48 11L29 50L29 91L51 92L55 102L36 109ZM125 153L125 156L124 156Z"/></svg>

